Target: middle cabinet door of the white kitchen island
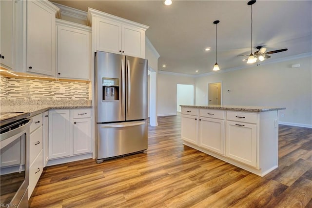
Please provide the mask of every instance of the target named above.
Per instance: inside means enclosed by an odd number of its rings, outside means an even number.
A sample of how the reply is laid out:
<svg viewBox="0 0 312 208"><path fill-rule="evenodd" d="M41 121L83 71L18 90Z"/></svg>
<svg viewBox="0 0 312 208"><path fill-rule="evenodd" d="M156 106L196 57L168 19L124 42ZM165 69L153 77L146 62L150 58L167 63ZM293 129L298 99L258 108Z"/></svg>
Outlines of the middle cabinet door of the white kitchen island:
<svg viewBox="0 0 312 208"><path fill-rule="evenodd" d="M224 120L200 117L198 146L223 155Z"/></svg>

